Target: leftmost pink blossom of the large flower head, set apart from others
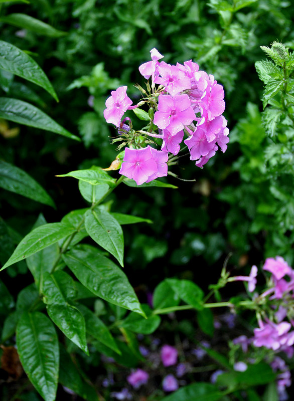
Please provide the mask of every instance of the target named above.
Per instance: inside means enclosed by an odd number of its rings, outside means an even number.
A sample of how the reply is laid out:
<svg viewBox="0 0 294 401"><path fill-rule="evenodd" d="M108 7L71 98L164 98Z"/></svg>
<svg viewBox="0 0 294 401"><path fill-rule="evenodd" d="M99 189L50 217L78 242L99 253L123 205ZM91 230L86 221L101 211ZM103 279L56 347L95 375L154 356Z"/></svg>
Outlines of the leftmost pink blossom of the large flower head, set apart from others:
<svg viewBox="0 0 294 401"><path fill-rule="evenodd" d="M104 110L104 118L116 127L120 126L121 117L132 104L126 90L127 86L120 86L116 91L111 91L111 96L105 102L107 109Z"/></svg>

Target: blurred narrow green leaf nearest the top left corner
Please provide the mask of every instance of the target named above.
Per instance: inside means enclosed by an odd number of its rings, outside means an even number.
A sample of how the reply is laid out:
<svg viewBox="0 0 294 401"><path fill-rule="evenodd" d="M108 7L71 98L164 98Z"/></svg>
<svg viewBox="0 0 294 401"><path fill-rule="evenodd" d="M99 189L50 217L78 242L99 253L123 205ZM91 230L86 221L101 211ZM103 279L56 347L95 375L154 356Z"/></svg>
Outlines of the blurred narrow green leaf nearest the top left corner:
<svg viewBox="0 0 294 401"><path fill-rule="evenodd" d="M66 35L66 32L58 31L51 27L51 25L45 24L43 21L37 20L36 18L30 17L26 14L9 14L8 16L1 17L0 22L24 28L35 32L36 34L49 36L51 38L59 38Z"/></svg>

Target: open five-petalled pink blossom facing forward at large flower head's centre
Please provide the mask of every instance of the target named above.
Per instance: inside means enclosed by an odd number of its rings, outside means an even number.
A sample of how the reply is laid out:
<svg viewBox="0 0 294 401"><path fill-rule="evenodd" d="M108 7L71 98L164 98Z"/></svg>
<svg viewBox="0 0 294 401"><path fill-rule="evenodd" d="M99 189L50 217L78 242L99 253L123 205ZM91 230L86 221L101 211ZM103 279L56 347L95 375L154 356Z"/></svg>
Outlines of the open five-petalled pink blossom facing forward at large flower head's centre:
<svg viewBox="0 0 294 401"><path fill-rule="evenodd" d="M160 95L158 111L154 115L154 124L161 129L168 128L172 135L181 131L184 125L194 120L195 114L188 95Z"/></svg>

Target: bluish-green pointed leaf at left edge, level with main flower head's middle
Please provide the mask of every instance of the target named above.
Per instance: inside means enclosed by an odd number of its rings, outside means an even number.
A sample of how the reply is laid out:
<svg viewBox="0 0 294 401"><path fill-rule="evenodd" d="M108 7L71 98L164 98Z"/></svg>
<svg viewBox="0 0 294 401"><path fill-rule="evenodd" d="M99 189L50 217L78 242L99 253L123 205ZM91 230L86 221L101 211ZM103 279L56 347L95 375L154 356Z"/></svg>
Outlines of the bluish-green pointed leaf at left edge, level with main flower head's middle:
<svg viewBox="0 0 294 401"><path fill-rule="evenodd" d="M0 117L19 124L55 132L56 134L80 141L78 136L71 134L43 111L22 100L0 97Z"/></svg>

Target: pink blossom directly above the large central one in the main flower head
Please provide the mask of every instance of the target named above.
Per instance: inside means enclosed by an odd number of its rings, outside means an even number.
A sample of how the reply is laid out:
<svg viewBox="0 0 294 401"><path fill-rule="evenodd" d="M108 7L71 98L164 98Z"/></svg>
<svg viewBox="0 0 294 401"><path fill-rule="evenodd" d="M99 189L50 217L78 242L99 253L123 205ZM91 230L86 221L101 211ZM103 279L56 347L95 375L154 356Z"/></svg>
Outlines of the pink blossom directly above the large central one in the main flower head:
<svg viewBox="0 0 294 401"><path fill-rule="evenodd" d="M158 71L161 76L156 77L154 83L164 85L165 90L172 96L191 88L190 78L178 67L161 64Z"/></svg>

